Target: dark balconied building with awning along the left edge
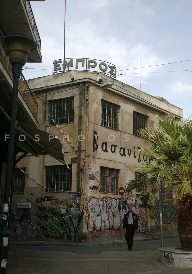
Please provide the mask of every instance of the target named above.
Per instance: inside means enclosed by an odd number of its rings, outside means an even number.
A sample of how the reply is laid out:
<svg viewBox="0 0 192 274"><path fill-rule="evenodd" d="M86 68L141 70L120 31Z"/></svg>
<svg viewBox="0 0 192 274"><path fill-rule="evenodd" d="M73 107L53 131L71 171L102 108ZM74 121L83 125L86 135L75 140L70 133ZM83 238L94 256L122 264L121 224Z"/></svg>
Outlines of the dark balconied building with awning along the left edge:
<svg viewBox="0 0 192 274"><path fill-rule="evenodd" d="M35 23L30 1L0 1L0 7L0 232L2 232L2 220L6 222L6 226L9 228L11 224L11 214L9 214L9 218L7 218L7 216L3 214L3 211L5 209L6 212L8 212L7 206L4 207L4 205L8 205L9 213L11 213L9 205L12 204L11 193L9 198L6 200L4 199L4 196L7 184L10 184L11 187L11 182L8 183L6 180L6 166L9 159L8 144L12 112L13 73L12 66L9 62L9 56L7 54L7 48L1 44L1 39L7 36L19 35L35 41L37 43L37 48L29 54L27 63L41 63L42 56L41 39ZM45 147L42 147L42 143L39 143L36 146L33 144L33 140L31 139L33 132L36 132L36 134L38 132L40 134L40 131L38 130L38 103L34 95L31 93L23 74L21 74L19 79L16 112L17 125L15 130L15 147L13 148L14 155L20 155L20 157L23 158L29 152L35 156L44 152L49 153L57 159L59 158L60 161L63 160L63 163L65 163L62 154L62 144L59 140L55 141L57 145L54 146L54 150L51 150L51 148L46 150ZM25 142L21 143L19 136L23 129L27 130L29 136ZM48 137L48 134L46 135L46 132L43 132L43 144L46 144L46 136ZM21 159L20 157L17 157L17 161L14 161L14 166ZM9 172L12 174L12 170L9 170L7 173ZM22 191L19 185L17 186L17 191ZM3 233L4 232L0 233L1 237Z"/></svg>

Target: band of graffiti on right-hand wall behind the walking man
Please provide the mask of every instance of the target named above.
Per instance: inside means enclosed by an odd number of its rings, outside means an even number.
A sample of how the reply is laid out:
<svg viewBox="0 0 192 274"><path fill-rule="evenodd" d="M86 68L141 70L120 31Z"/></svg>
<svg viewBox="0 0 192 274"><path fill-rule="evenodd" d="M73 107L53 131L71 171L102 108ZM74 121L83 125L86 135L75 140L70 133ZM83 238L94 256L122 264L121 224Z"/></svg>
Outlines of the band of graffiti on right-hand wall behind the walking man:
<svg viewBox="0 0 192 274"><path fill-rule="evenodd" d="M127 213L127 206L131 204L133 211L138 216L138 233L143 233L146 230L147 224L145 224L145 209L140 207L141 200L138 197L129 198L123 197L123 212L122 220ZM150 210L150 217L152 220L155 219L155 223L160 224L160 210L159 200L152 195L151 196L152 208ZM172 200L164 200L162 206L163 223L173 224L177 223L177 207L178 203L174 203ZM92 231L103 231L120 228L121 220L121 202L116 198L91 198L86 204L86 211L88 214L87 230Z"/></svg>

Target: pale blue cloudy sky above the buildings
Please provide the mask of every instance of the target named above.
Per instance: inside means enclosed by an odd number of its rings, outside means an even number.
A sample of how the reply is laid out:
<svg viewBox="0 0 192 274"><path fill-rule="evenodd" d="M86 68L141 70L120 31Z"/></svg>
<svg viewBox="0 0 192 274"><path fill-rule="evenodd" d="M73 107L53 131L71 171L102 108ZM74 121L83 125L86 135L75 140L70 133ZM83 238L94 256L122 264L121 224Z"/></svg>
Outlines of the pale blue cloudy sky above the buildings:
<svg viewBox="0 0 192 274"><path fill-rule="evenodd" d="M65 0L30 2L41 37L42 63L26 79L52 74L63 59ZM116 65L116 79L161 96L192 114L191 0L66 0L65 58ZM26 68L27 67L27 68ZM122 73L122 75L119 75Z"/></svg>

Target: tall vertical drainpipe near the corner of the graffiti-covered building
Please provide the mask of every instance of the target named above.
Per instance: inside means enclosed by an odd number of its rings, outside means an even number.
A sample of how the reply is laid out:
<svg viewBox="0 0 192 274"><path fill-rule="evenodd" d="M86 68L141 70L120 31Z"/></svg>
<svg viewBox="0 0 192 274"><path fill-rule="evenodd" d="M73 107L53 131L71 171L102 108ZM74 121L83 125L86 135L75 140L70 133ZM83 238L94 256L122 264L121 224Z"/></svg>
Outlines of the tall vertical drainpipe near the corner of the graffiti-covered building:
<svg viewBox="0 0 192 274"><path fill-rule="evenodd" d="M79 125L78 125L78 152L81 154L81 131L82 131L82 104L83 104L83 84L80 84L79 88ZM81 175L81 158L77 155L77 211L79 211L80 208L80 175ZM76 216L76 228L79 225L79 213ZM76 234L76 242L79 241L79 237Z"/></svg>

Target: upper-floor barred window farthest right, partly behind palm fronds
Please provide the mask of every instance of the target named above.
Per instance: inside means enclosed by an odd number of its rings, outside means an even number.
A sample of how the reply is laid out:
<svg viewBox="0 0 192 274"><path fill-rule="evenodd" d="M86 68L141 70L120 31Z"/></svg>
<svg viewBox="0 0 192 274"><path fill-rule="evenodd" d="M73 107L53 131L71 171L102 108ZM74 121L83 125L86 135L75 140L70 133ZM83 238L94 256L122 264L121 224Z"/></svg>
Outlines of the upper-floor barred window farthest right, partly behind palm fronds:
<svg viewBox="0 0 192 274"><path fill-rule="evenodd" d="M147 116L141 113L133 112L133 134L142 136L140 130L147 131L147 118Z"/></svg>

